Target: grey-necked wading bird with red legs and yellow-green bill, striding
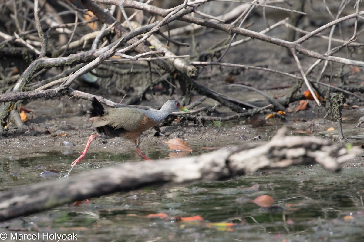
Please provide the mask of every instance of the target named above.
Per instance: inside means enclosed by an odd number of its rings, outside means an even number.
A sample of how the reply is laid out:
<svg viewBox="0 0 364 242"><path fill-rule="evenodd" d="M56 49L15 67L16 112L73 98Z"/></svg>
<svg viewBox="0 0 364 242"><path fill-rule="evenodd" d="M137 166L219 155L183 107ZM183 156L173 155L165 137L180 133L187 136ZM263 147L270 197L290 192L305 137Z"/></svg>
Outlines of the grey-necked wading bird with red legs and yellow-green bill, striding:
<svg viewBox="0 0 364 242"><path fill-rule="evenodd" d="M190 110L183 107L178 101L169 100L163 104L158 111L145 110L132 107L119 107L119 108L104 108L102 104L94 97L92 99L91 108L87 110L90 116L89 120L92 122L100 135L90 135L86 148L80 152L74 162L72 168L75 167L85 157L91 141L96 137L101 138L115 138L121 137L127 140L134 141L137 147L137 153L145 160L150 160L140 150L140 136L146 130L161 123L171 112L184 111L191 113Z"/></svg>

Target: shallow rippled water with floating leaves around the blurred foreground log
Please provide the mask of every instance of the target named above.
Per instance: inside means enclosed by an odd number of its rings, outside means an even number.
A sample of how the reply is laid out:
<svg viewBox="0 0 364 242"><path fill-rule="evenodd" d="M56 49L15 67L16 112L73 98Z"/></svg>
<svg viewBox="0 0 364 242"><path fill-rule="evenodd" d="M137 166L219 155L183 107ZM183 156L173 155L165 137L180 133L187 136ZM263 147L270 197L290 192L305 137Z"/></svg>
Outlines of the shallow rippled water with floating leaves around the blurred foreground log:
<svg viewBox="0 0 364 242"><path fill-rule="evenodd" d="M206 150L194 151L193 155L200 152ZM153 149L146 155L156 159L168 153ZM60 177L67 173L74 156L45 153L3 160L1 191L67 179ZM134 151L90 153L71 176L85 169L132 162L134 158ZM361 164L340 173L325 171L318 165L297 166L224 181L145 187L10 220L0 223L0 230L40 236L75 233L77 241L362 241L363 170ZM250 202L262 194L274 198L269 208ZM157 213L165 213L168 218L146 217ZM177 216L201 216L203 221L176 221Z"/></svg>

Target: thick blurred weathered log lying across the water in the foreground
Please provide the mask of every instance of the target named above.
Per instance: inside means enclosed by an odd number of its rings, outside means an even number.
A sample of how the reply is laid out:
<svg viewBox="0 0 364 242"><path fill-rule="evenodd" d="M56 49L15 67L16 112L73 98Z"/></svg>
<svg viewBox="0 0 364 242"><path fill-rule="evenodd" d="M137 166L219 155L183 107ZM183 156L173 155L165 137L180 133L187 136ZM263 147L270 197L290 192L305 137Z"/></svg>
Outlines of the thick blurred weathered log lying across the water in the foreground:
<svg viewBox="0 0 364 242"><path fill-rule="evenodd" d="M359 148L348 151L328 140L286 136L285 132L284 128L278 130L270 142L258 147L222 148L195 157L122 164L21 186L0 194L0 221L146 185L221 180L256 169L314 162L338 171L340 163L359 153Z"/></svg>

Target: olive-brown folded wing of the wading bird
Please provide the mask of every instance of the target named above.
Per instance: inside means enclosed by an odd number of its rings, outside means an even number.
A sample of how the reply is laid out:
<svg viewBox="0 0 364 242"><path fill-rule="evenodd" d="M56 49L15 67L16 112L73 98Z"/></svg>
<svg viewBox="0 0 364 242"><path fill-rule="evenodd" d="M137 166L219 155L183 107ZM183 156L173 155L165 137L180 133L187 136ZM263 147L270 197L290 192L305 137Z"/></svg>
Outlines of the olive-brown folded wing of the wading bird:
<svg viewBox="0 0 364 242"><path fill-rule="evenodd" d="M136 108L112 108L106 109L100 117L93 117L93 126L110 126L115 130L123 128L126 131L134 131L145 117L142 111Z"/></svg>

